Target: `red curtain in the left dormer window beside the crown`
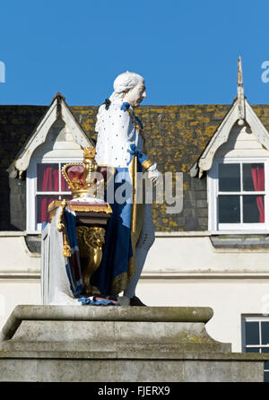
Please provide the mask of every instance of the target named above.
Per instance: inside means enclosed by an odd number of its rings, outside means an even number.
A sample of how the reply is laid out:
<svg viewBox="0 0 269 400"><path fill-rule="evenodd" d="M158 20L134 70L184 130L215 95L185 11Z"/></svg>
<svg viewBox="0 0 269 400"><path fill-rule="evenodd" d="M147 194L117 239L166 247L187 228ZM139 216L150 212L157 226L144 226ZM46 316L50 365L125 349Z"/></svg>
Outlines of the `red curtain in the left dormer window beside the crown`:
<svg viewBox="0 0 269 400"><path fill-rule="evenodd" d="M43 177L41 174L43 173ZM59 172L58 166L41 164L38 169L38 190L42 192L57 192L59 190ZM40 196L40 219L38 222L48 222L48 205L56 199L57 196Z"/></svg>

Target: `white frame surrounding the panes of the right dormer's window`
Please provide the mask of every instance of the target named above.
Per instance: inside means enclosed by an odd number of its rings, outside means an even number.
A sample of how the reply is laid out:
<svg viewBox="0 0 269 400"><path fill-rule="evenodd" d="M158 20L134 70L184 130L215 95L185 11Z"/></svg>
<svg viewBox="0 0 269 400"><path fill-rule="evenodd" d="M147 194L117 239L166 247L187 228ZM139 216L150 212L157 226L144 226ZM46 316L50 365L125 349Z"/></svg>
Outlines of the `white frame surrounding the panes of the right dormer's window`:
<svg viewBox="0 0 269 400"><path fill-rule="evenodd" d="M219 223L218 222L218 170L220 164L231 163L261 163L265 164L265 223ZM207 176L207 198L208 198L208 230L212 233L268 233L268 199L269 199L269 159L263 157L238 157L238 158L216 158ZM234 192L232 192L234 193ZM240 192L241 193L241 192ZM260 192L258 192L260 193ZM229 194L229 192L225 192ZM242 193L241 193L242 194ZM256 192L246 192L246 195L254 195Z"/></svg>

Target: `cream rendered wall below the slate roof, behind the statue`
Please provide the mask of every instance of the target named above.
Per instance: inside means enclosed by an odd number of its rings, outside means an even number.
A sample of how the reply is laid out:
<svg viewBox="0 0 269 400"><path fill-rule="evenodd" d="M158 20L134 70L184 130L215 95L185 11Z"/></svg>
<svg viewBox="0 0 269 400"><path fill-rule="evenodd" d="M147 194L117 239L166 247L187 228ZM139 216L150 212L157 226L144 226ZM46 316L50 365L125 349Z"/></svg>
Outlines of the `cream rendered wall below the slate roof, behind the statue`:
<svg viewBox="0 0 269 400"><path fill-rule="evenodd" d="M17 304L41 303L39 255L18 232L1 235L0 329ZM205 233L156 236L136 294L149 306L212 307L209 335L240 352L241 314L266 309L268 250L216 249Z"/></svg>

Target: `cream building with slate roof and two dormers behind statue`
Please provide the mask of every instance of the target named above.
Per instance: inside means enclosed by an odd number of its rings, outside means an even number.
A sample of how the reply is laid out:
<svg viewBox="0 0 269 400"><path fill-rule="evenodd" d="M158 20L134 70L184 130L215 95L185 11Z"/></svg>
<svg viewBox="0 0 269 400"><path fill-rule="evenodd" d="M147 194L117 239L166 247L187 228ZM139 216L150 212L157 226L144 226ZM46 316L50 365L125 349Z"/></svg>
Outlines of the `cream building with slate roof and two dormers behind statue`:
<svg viewBox="0 0 269 400"><path fill-rule="evenodd" d="M0 328L17 304L41 304L41 224L51 200L70 198L61 167L94 145L97 111L60 93L48 107L0 106ZM156 239L137 295L150 306L212 307L215 340L269 352L269 106L248 103L239 60L232 104L136 114L147 154L174 178L169 202L152 204Z"/></svg>

